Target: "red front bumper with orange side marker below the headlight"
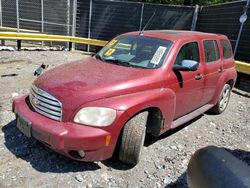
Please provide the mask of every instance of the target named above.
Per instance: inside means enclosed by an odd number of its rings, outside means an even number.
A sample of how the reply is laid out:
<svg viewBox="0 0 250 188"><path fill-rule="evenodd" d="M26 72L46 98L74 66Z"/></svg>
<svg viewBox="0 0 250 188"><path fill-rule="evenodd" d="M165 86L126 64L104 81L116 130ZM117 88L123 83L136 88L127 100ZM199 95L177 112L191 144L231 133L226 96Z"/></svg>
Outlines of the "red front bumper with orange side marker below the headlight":
<svg viewBox="0 0 250 188"><path fill-rule="evenodd" d="M80 161L110 158L124 123L123 119L126 119L116 118L108 130L72 122L58 122L32 111L26 102L26 96L13 101L13 112L31 122L32 137L58 153ZM118 117L122 116L122 112L118 113ZM85 152L85 157L77 155L79 150Z"/></svg>

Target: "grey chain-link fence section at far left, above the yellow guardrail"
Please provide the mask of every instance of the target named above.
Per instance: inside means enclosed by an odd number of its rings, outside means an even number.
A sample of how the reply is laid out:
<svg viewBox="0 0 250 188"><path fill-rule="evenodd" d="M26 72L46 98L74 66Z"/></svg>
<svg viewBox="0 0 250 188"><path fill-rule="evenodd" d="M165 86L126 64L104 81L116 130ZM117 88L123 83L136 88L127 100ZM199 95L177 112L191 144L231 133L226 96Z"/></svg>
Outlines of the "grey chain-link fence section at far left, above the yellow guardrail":
<svg viewBox="0 0 250 188"><path fill-rule="evenodd" d="M2 30L74 35L74 0L0 0ZM75 26L74 26L75 27Z"/></svg>

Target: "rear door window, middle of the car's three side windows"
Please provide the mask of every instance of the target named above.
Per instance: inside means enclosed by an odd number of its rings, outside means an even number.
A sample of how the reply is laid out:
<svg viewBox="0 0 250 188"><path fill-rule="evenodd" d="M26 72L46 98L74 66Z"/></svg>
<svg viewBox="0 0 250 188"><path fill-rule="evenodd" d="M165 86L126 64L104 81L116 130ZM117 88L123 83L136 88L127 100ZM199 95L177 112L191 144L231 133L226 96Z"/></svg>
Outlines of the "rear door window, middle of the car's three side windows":
<svg viewBox="0 0 250 188"><path fill-rule="evenodd" d="M218 44L215 40L203 41L205 51L205 62L210 63L220 59Z"/></svg>

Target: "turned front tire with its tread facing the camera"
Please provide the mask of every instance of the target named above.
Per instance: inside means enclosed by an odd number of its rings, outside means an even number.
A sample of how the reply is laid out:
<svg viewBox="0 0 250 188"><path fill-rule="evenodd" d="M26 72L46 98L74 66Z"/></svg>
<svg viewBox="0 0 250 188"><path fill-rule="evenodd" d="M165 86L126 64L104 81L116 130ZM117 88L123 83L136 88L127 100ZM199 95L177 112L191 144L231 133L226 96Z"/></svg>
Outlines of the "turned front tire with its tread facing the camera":
<svg viewBox="0 0 250 188"><path fill-rule="evenodd" d="M143 148L148 112L142 112L130 119L124 126L119 150L120 161L136 165Z"/></svg>

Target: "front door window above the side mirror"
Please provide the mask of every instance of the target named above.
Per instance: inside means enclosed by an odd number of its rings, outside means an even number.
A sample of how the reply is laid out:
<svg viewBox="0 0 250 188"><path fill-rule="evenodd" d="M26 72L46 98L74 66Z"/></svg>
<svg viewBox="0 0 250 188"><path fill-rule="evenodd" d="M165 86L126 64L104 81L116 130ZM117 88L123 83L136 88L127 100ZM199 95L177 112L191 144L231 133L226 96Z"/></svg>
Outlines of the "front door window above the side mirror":
<svg viewBox="0 0 250 188"><path fill-rule="evenodd" d="M190 42L187 44L184 44L176 59L174 64L181 65L181 62L183 60L194 60L197 62L200 62L200 53L199 53L199 48L198 48L198 43L197 42Z"/></svg>

